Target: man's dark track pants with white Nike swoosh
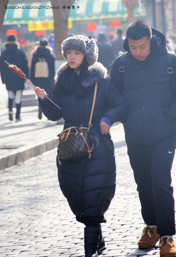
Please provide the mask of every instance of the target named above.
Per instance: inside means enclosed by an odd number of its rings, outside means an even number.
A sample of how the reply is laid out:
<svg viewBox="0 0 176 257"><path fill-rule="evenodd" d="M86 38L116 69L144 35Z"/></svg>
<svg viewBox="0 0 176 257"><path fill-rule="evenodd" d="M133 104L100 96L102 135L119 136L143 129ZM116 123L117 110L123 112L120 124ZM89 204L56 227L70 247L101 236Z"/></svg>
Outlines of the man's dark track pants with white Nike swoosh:
<svg viewBox="0 0 176 257"><path fill-rule="evenodd" d="M176 136L154 145L126 142L145 224L157 226L160 236L175 235L175 211L171 168Z"/></svg>

